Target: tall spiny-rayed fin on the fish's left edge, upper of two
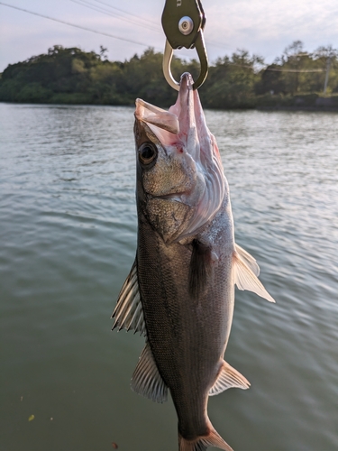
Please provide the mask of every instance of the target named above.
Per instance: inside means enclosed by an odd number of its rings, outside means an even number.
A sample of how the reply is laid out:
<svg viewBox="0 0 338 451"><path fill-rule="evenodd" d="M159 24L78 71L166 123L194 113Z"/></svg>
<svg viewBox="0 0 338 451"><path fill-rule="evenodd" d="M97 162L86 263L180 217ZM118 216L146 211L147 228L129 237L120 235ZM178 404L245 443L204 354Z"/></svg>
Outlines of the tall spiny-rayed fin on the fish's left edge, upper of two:
<svg viewBox="0 0 338 451"><path fill-rule="evenodd" d="M113 329L115 327L118 327L119 330L122 328L134 329L134 333L140 332L141 335L146 335L136 259L132 264L131 272L123 283L112 318L115 318Z"/></svg>

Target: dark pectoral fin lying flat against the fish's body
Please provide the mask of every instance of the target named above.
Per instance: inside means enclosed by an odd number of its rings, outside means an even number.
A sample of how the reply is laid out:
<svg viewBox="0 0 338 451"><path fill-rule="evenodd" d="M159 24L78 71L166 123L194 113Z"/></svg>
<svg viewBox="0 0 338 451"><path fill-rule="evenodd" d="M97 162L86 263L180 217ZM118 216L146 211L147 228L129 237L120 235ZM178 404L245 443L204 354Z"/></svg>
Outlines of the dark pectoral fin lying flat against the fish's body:
<svg viewBox="0 0 338 451"><path fill-rule="evenodd" d="M211 249L206 244L193 240L189 266L189 293L192 298L198 298L205 290L206 281L212 262Z"/></svg>

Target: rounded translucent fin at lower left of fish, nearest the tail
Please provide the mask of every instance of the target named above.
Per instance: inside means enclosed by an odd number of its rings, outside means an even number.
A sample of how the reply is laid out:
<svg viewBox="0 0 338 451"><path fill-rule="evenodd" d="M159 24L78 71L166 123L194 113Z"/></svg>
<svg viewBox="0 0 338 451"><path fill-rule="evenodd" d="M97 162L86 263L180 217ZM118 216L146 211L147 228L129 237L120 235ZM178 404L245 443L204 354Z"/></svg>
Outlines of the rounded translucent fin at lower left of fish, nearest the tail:
<svg viewBox="0 0 338 451"><path fill-rule="evenodd" d="M132 374L132 390L156 402L168 399L168 387L160 376L149 343L145 345Z"/></svg>

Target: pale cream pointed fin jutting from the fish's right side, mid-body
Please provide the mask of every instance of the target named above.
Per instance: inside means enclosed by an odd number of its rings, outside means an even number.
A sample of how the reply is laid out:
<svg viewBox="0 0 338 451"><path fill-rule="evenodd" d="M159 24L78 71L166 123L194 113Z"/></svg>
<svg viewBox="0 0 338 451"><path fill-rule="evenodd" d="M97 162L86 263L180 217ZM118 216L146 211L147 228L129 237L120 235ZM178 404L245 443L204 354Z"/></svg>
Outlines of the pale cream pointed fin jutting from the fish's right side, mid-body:
<svg viewBox="0 0 338 451"><path fill-rule="evenodd" d="M250 255L250 253L248 253L248 255ZM236 251L233 253L234 283L237 285L238 289L253 291L261 298L267 299L269 302L275 302L275 299L269 295L268 291L265 290L263 284L258 280L255 273L252 272L249 264L247 263L248 258L245 260L246 262L244 262L240 253L237 253Z"/></svg>

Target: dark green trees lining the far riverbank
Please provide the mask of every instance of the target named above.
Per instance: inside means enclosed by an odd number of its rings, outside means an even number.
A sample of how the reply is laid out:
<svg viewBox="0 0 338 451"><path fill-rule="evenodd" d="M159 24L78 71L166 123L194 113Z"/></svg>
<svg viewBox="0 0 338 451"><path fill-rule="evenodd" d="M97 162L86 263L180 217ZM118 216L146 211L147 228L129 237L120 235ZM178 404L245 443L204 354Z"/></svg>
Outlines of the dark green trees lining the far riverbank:
<svg viewBox="0 0 338 451"><path fill-rule="evenodd" d="M10 64L0 78L0 101L133 105L136 97L172 105L176 92L163 78L162 53L148 49L130 60L109 61L99 53L55 45L45 54ZM197 76L196 60L173 59L175 78ZM325 92L324 92L325 91ZM310 53L295 41L270 64L236 51L211 65L199 90L210 108L338 108L338 59L332 47Z"/></svg>

